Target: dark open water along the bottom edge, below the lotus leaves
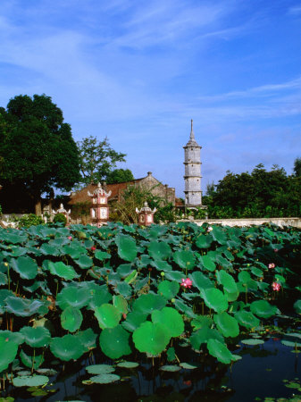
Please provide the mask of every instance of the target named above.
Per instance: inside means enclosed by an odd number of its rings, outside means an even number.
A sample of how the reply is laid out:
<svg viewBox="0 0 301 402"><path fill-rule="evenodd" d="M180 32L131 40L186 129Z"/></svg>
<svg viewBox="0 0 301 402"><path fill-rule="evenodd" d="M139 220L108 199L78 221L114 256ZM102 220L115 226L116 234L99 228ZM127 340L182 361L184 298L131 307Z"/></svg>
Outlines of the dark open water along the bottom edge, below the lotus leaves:
<svg viewBox="0 0 301 402"><path fill-rule="evenodd" d="M188 348L180 349L180 360L191 363ZM240 346L235 353L243 358L231 366L216 364L213 358L209 358L196 370L182 369L177 373L167 373L158 370L159 364L153 367L151 359L146 359L135 369L116 367L114 373L121 376L121 381L107 385L84 385L82 381L90 377L85 365L110 363L100 362L95 356L94 361L58 366L60 373L50 377L54 385L46 387L55 389L55 393L32 397L26 388L21 388L7 389L3 396L10 395L17 402L247 402L254 401L255 398L292 398L293 394L297 394L301 401L301 392L285 387L283 381L301 379L301 354L291 353L292 349L282 345L275 335L274 338L266 339L263 345ZM197 361L196 357L199 362L201 356L194 356L194 363Z"/></svg>

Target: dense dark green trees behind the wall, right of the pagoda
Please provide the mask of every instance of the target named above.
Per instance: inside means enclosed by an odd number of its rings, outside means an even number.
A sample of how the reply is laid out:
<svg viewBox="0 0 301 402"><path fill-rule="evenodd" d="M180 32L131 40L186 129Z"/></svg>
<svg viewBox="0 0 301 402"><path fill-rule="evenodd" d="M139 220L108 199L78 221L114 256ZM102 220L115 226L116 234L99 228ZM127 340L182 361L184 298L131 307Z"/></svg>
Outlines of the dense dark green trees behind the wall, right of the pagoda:
<svg viewBox="0 0 301 402"><path fill-rule="evenodd" d="M273 165L267 172L262 163L249 172L227 172L204 197L211 218L281 217L301 214L301 177L288 176Z"/></svg>

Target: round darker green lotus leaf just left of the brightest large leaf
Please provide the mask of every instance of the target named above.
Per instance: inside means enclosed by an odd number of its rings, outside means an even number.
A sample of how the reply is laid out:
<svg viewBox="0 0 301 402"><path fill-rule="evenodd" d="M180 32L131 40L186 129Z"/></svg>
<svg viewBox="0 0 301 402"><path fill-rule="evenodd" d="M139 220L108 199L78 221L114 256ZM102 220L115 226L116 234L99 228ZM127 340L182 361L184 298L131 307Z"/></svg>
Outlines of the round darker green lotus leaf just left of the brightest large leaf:
<svg viewBox="0 0 301 402"><path fill-rule="evenodd" d="M99 335L99 345L105 356L111 359L119 359L121 356L130 355L130 333L123 330L121 325L114 328L105 328Z"/></svg>

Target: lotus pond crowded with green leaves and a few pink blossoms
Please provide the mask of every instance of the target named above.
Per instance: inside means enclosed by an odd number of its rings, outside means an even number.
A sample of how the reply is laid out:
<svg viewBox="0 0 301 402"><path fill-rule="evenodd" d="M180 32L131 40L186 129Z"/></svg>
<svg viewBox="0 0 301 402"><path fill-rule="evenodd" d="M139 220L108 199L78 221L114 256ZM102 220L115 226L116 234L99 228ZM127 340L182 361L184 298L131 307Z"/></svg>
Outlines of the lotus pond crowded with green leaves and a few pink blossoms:
<svg viewBox="0 0 301 402"><path fill-rule="evenodd" d="M300 251L272 224L0 230L0 400L300 400Z"/></svg>

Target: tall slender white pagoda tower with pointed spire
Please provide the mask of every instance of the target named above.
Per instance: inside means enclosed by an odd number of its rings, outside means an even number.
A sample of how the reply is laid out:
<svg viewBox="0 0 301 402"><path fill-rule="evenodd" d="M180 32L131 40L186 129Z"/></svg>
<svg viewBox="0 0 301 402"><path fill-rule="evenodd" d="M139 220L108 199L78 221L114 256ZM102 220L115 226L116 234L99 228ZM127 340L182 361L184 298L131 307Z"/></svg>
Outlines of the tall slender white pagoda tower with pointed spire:
<svg viewBox="0 0 301 402"><path fill-rule="evenodd" d="M193 132L193 121L191 120L191 132L188 143L184 148L185 153L185 206L201 206L201 148Z"/></svg>

